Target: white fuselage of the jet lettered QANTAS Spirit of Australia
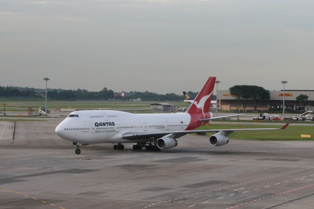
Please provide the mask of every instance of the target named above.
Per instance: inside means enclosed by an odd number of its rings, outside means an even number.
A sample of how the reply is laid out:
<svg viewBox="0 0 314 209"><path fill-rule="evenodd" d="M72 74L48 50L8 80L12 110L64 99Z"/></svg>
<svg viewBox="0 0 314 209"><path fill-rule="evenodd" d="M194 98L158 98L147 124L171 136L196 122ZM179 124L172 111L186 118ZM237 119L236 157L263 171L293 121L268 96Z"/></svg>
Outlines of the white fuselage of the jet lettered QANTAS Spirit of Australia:
<svg viewBox="0 0 314 209"><path fill-rule="evenodd" d="M69 114L55 129L63 139L86 144L134 143L149 139L122 139L127 132L184 131L188 113L132 114L115 110L82 110Z"/></svg>

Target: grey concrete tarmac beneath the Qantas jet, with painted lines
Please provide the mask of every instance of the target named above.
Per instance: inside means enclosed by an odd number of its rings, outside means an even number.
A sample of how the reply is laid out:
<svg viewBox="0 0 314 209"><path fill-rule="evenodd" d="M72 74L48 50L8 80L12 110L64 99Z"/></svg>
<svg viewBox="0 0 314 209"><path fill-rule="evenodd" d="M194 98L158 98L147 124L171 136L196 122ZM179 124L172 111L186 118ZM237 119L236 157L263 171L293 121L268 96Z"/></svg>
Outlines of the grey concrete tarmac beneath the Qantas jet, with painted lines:
<svg viewBox="0 0 314 209"><path fill-rule="evenodd" d="M186 135L161 152L102 144L76 155L58 123L17 122L13 142L0 144L0 209L314 208L311 141L212 147Z"/></svg>

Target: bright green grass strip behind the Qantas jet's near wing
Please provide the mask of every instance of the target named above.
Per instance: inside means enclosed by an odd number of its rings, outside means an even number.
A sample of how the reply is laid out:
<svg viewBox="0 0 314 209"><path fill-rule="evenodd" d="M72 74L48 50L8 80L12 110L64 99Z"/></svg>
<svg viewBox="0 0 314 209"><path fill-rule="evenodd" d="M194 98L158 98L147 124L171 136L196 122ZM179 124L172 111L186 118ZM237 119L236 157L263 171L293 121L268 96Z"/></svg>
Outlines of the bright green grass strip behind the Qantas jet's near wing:
<svg viewBox="0 0 314 209"><path fill-rule="evenodd" d="M280 126L278 126L279 128ZM224 125L214 124L202 126L199 130L206 129L254 129L254 128L276 128L276 126L266 125ZM208 133L210 136L213 133ZM301 134L311 134L312 138L301 138ZM288 126L286 130L270 130L270 131L235 131L228 136L230 139L249 139L249 140L314 140L313 126Z"/></svg>

